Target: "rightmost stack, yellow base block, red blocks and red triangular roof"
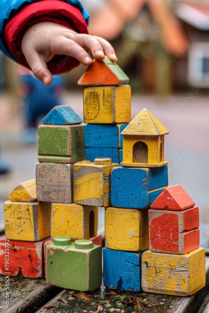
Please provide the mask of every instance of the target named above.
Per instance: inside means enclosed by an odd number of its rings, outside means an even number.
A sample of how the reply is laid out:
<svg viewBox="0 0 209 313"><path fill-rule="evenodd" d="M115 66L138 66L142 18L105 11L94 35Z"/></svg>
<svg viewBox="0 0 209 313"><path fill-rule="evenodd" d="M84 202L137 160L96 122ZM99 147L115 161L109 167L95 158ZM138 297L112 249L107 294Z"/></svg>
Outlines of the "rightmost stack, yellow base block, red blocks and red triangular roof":
<svg viewBox="0 0 209 313"><path fill-rule="evenodd" d="M149 249L142 254L142 289L193 295L205 286L199 209L180 185L167 187L149 209Z"/></svg>

